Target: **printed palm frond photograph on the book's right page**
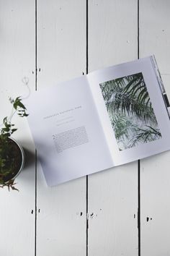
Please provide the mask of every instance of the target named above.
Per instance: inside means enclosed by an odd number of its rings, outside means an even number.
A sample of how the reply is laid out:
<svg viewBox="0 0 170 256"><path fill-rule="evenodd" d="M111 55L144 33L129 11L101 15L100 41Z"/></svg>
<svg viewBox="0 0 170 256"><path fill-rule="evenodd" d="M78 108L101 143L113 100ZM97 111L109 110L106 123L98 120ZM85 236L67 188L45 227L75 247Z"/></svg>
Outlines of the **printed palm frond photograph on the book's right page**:
<svg viewBox="0 0 170 256"><path fill-rule="evenodd" d="M143 74L99 84L119 150L161 138Z"/></svg>

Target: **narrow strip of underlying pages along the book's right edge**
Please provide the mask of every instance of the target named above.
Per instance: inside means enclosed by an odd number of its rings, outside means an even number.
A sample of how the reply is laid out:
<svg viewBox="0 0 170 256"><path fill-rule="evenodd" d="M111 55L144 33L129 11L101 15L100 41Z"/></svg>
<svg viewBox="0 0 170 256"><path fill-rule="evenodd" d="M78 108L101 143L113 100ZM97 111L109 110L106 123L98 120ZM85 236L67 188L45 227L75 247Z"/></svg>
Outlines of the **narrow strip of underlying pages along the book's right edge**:
<svg viewBox="0 0 170 256"><path fill-rule="evenodd" d="M161 95L164 99L164 103L165 103L165 106L166 106L166 111L169 115L169 119L170 119L170 104L169 104L169 99L166 95L166 91L165 91L165 88L164 88L164 84L163 84L163 81L161 79L161 73L159 72L159 69L158 69L158 64L156 62L156 58L155 56L151 56L151 63L152 63L152 66L153 66L153 69L154 69L154 72L156 74L156 79L158 81L158 85L159 85L159 88L161 90Z"/></svg>

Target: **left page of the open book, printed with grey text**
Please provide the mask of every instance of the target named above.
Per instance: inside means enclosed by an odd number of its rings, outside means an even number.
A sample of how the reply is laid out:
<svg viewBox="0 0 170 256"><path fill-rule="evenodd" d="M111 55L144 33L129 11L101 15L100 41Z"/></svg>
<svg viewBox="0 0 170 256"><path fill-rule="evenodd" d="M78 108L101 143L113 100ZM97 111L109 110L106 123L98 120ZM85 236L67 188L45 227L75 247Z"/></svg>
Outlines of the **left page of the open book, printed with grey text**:
<svg viewBox="0 0 170 256"><path fill-rule="evenodd" d="M113 166L85 76L38 90L24 103L49 186Z"/></svg>

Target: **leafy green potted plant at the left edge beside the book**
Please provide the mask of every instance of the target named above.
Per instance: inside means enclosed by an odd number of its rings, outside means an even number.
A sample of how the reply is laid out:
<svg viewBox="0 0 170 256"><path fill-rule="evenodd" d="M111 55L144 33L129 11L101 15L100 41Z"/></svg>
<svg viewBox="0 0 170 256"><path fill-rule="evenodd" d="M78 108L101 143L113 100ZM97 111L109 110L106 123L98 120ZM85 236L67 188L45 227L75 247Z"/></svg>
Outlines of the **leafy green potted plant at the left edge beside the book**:
<svg viewBox="0 0 170 256"><path fill-rule="evenodd" d="M3 127L0 129L0 187L16 189L14 179L24 166L24 150L11 137L17 131L11 120L14 114L18 114L20 117L28 116L28 114L21 97L17 97L15 100L9 98L9 101L13 106L12 115L9 118L7 116L4 118Z"/></svg>

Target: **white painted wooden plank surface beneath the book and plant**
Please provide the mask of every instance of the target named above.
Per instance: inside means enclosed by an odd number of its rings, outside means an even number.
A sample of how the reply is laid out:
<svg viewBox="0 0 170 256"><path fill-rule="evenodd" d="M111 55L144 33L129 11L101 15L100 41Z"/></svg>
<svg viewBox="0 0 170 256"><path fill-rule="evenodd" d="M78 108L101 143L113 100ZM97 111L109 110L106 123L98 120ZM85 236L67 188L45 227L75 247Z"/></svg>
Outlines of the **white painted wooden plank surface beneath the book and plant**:
<svg viewBox="0 0 170 256"><path fill-rule="evenodd" d="M169 9L168 0L0 0L1 119L8 96L27 95L23 77L38 90L138 51L156 54L170 98ZM137 162L49 188L27 121L14 121L27 165L20 192L0 191L0 255L170 255L169 152L140 162L140 205Z"/></svg>

